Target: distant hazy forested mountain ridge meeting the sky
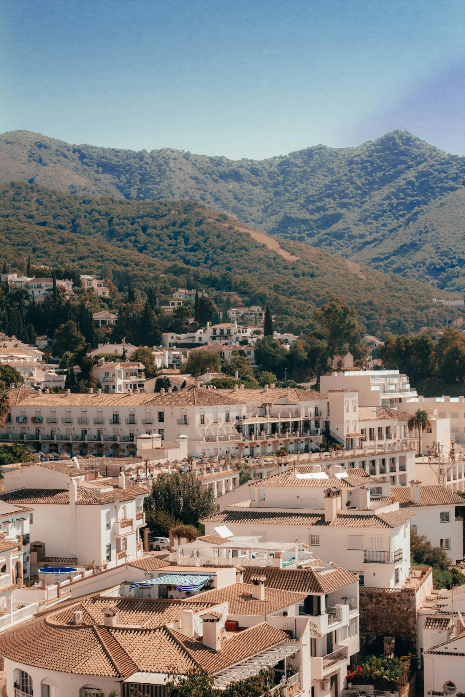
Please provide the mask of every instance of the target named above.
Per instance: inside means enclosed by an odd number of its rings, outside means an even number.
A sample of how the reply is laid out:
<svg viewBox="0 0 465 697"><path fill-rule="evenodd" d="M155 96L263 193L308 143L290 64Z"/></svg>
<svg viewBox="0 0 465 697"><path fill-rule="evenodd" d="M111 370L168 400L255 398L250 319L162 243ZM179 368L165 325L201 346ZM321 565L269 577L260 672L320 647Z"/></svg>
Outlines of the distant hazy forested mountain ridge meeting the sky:
<svg viewBox="0 0 465 697"><path fill-rule="evenodd" d="M0 181L12 180L130 201L199 201L272 235L465 290L465 158L404 131L261 161L70 145L15 131L0 136Z"/></svg>

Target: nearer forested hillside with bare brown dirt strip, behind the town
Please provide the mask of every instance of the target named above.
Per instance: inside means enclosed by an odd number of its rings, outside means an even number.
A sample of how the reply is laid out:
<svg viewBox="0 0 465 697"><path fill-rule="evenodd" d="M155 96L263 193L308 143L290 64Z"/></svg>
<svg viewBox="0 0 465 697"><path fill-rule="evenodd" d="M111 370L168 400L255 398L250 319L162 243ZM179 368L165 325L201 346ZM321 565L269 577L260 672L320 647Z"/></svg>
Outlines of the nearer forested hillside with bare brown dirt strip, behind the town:
<svg viewBox="0 0 465 697"><path fill-rule="evenodd" d="M24 182L0 185L0 244L0 259L13 269L25 271L31 254L33 265L75 263L121 291L128 282L165 295L185 282L234 291L245 302L269 302L277 328L299 333L332 296L353 303L370 334L439 328L463 314L432 302L430 286L278 240L192 201L92 199Z"/></svg>

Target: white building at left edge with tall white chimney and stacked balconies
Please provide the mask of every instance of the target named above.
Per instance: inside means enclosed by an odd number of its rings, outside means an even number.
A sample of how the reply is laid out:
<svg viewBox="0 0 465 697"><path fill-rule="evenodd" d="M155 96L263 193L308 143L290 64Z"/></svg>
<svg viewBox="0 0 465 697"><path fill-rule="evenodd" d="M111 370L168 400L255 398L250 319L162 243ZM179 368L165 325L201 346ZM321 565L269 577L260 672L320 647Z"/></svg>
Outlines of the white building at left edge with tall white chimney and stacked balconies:
<svg viewBox="0 0 465 697"><path fill-rule="evenodd" d="M0 499L31 510L31 565L47 558L112 568L142 556L146 489L59 461L4 473Z"/></svg>

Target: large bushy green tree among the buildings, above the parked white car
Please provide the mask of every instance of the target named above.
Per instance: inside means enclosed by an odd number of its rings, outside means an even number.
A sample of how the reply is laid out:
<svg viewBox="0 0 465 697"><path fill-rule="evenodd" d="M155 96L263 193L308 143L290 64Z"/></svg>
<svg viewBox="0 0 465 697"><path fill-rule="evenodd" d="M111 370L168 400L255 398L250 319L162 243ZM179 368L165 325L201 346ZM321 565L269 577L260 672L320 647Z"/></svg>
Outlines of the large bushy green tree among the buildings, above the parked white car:
<svg viewBox="0 0 465 697"><path fill-rule="evenodd" d="M146 499L146 510L165 511L186 525L197 526L216 510L211 487L203 487L196 473L174 472L158 475Z"/></svg>

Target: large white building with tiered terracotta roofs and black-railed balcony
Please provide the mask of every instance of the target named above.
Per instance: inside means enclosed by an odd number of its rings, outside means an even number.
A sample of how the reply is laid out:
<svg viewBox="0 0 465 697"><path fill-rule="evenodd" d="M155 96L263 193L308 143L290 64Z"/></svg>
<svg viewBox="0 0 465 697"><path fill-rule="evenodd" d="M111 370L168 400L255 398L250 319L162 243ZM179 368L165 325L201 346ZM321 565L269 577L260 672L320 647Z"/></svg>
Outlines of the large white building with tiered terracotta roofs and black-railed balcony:
<svg viewBox="0 0 465 697"><path fill-rule="evenodd" d="M309 471L310 470L310 471ZM360 585L402 588L410 567L410 518L399 503L371 499L367 478L328 477L317 466L296 465L249 485L252 498L203 519L206 535L227 526L261 542L310 545L311 551L360 576Z"/></svg>

